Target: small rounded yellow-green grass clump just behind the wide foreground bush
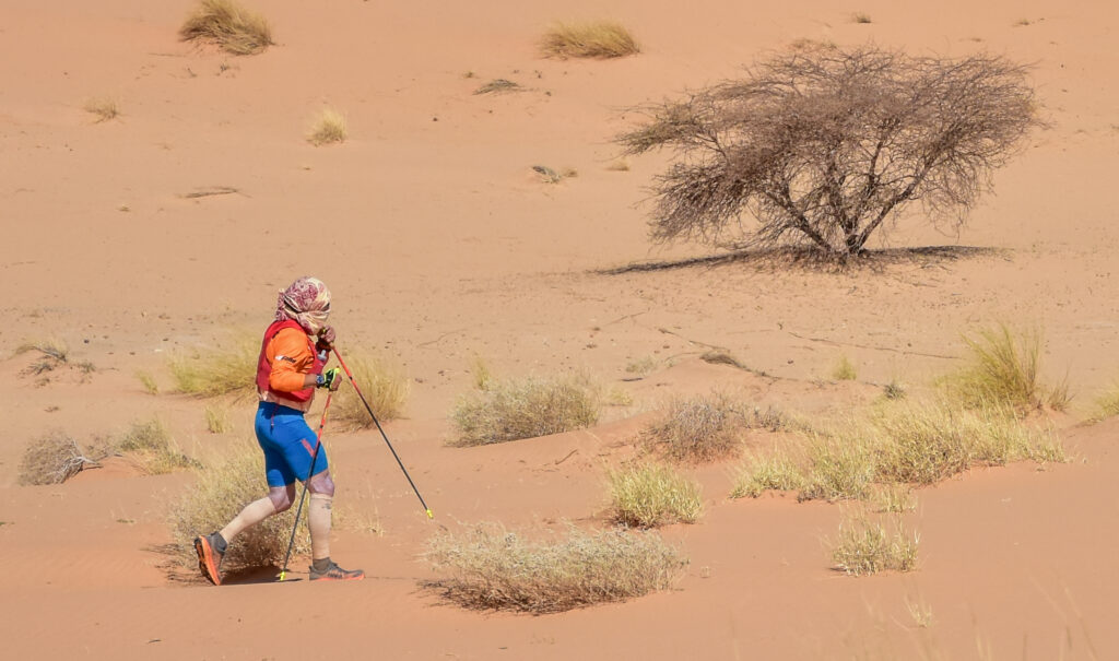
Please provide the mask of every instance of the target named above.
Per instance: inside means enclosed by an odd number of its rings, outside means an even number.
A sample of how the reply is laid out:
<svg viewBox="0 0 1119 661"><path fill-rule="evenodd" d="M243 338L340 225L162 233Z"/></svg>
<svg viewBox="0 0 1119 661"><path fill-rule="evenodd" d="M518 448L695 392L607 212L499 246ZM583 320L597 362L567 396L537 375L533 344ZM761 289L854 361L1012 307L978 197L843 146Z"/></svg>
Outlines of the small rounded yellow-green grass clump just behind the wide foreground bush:
<svg viewBox="0 0 1119 661"><path fill-rule="evenodd" d="M610 471L613 520L632 528L695 523L703 511L699 484L669 466L645 465Z"/></svg>

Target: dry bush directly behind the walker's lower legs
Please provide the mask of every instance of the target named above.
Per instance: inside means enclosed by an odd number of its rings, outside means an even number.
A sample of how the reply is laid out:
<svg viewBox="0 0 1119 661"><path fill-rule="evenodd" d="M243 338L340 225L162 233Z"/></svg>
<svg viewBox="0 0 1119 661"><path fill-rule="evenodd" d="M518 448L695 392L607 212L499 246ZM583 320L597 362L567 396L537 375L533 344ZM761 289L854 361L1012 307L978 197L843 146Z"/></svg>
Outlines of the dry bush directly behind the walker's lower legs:
<svg viewBox="0 0 1119 661"><path fill-rule="evenodd" d="M195 566L195 537L220 530L246 504L264 498L267 489L260 447L251 442L236 443L228 459L199 471L197 484L171 504L168 518L177 557L185 566ZM222 570L278 566L288 550L294 517L293 507L238 535L229 544ZM310 544L307 527L300 526L293 553L308 553Z"/></svg>

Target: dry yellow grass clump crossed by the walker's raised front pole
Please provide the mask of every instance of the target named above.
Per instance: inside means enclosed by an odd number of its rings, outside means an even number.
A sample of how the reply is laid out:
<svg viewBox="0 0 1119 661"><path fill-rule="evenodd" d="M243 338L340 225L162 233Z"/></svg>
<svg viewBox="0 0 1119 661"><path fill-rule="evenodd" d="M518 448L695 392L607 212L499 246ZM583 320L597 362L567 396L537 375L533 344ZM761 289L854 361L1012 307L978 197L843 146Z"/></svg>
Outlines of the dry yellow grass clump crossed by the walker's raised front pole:
<svg viewBox="0 0 1119 661"><path fill-rule="evenodd" d="M386 360L356 353L346 361L354 374L357 387L361 388L365 400L378 421L387 422L404 415L404 404L408 398L408 380L404 374ZM345 375L342 375L344 378ZM361 404L349 379L346 379L333 395L328 419L338 422L348 431L374 426L369 412Z"/></svg>

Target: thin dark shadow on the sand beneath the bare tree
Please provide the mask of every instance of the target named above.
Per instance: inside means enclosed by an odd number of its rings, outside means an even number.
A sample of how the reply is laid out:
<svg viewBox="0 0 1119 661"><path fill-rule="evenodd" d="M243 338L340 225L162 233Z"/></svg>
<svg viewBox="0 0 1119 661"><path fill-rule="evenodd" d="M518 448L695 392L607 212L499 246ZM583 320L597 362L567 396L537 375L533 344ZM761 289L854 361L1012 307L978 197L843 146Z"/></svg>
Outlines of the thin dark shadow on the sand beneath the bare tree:
<svg viewBox="0 0 1119 661"><path fill-rule="evenodd" d="M721 255L704 255L684 259L658 259L649 262L631 262L610 268L594 268L595 275L622 275L627 273L643 273L650 271L676 271L681 268L742 265L761 271L881 271L894 265L929 265L942 262L977 257L1005 256L1006 251L985 246L922 246L915 248L884 248L864 251L857 255L829 255L814 248L746 248L723 253Z"/></svg>

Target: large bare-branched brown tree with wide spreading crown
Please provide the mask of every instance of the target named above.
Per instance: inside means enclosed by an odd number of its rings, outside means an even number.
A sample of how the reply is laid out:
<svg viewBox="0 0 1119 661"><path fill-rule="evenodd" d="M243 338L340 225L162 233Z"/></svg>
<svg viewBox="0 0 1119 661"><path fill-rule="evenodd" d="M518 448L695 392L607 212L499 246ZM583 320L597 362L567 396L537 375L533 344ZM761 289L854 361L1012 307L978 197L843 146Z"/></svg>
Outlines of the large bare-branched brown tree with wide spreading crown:
<svg viewBox="0 0 1119 661"><path fill-rule="evenodd" d="M989 55L818 46L636 108L649 121L617 140L630 154L676 152L653 185L653 240L807 244L846 258L914 200L932 223L963 223L1043 124L1026 74Z"/></svg>

